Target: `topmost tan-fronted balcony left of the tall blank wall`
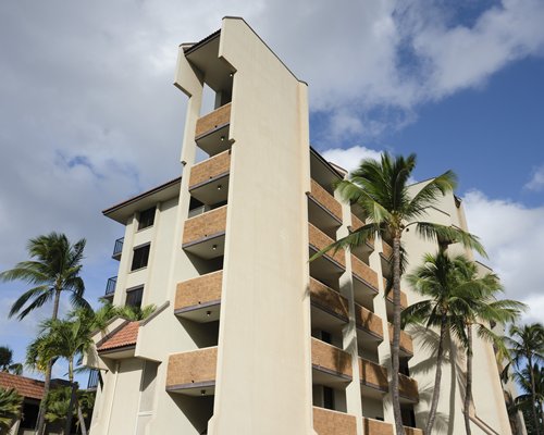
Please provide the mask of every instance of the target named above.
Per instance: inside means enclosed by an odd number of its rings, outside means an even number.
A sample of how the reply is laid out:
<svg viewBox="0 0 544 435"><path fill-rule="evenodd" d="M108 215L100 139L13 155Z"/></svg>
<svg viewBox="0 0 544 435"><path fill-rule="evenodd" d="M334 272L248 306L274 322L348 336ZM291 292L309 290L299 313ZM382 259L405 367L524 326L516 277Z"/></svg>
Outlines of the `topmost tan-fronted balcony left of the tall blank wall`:
<svg viewBox="0 0 544 435"><path fill-rule="evenodd" d="M231 123L231 103L200 117L195 129L195 140L209 156L226 151L231 147L228 126Z"/></svg>

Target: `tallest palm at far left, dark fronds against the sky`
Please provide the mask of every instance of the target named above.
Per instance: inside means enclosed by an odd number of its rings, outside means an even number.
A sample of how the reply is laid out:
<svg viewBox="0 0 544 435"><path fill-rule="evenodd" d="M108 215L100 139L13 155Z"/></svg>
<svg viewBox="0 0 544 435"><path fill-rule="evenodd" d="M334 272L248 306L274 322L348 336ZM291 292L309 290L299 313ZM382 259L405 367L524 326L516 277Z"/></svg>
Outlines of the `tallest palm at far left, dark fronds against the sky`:
<svg viewBox="0 0 544 435"><path fill-rule="evenodd" d="M28 240L27 250L32 260L22 261L9 271L0 273L0 281L23 281L32 286L13 303L10 318L18 314L24 319L34 310L52 300L51 320L59 316L62 293L69 293L75 307L88 307L84 299L85 285L79 276L82 270L85 239L72 245L64 234L50 233ZM44 397L47 397L51 384L52 361L47 363ZM40 410L36 433L42 435L45 428L45 401Z"/></svg>

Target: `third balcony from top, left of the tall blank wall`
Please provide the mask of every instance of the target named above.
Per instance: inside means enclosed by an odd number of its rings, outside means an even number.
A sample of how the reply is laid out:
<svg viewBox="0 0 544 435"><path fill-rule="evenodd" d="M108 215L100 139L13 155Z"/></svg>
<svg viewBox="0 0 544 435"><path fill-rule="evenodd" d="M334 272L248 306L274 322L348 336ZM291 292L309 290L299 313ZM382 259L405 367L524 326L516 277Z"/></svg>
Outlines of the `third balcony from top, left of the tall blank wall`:
<svg viewBox="0 0 544 435"><path fill-rule="evenodd" d="M185 221L183 249L203 259L224 254L226 206Z"/></svg>

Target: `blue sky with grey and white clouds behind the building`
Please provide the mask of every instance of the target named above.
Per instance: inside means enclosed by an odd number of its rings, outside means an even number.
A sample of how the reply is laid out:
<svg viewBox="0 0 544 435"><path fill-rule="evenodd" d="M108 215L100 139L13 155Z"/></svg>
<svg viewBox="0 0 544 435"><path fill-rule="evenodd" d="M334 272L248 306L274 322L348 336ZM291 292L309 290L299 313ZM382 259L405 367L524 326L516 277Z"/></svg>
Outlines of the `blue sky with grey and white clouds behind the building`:
<svg viewBox="0 0 544 435"><path fill-rule="evenodd" d="M178 176L177 47L225 15L308 83L329 160L416 152L416 179L454 170L485 263L544 321L542 0L0 2L0 270L63 232L87 239L86 295L103 295L124 228L101 210ZM0 345L18 361L50 313L7 319L24 289L0 284Z"/></svg>

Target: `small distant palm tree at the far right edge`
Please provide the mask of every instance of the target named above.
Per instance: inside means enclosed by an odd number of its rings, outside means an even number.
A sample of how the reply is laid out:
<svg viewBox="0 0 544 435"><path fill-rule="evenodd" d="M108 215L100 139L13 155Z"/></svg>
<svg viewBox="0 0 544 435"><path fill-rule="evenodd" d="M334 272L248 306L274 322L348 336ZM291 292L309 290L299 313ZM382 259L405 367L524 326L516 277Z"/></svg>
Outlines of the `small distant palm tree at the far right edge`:
<svg viewBox="0 0 544 435"><path fill-rule="evenodd" d="M536 413L536 385L534 368L537 363L544 361L544 326L541 323L532 323L523 326L512 325L510 327L510 337L507 338L508 353L511 358L511 364L515 365L518 373L521 373L523 363L530 382L530 394L532 396L532 417L536 435L540 435L539 417ZM508 373L510 363L505 368Z"/></svg>

